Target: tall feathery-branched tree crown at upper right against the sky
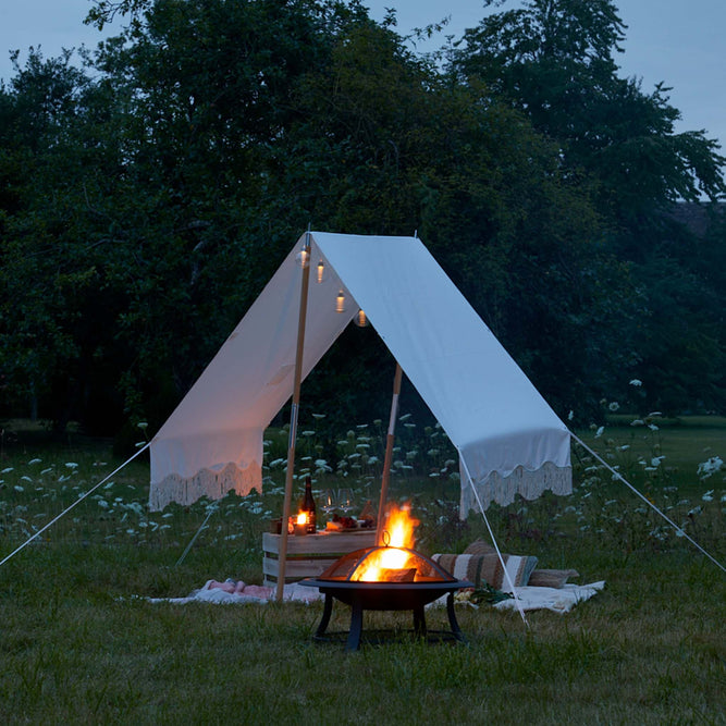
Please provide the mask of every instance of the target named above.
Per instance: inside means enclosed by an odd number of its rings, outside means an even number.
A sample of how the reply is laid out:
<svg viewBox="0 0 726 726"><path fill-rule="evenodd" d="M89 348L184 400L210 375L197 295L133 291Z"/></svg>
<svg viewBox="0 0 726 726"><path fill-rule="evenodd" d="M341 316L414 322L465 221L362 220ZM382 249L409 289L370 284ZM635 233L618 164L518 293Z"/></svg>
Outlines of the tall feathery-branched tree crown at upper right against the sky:
<svg viewBox="0 0 726 726"><path fill-rule="evenodd" d="M567 173L592 180L617 224L726 193L726 159L704 132L674 133L667 88L644 94L618 77L625 29L612 0L527 0L467 30L452 60L555 139Z"/></svg>

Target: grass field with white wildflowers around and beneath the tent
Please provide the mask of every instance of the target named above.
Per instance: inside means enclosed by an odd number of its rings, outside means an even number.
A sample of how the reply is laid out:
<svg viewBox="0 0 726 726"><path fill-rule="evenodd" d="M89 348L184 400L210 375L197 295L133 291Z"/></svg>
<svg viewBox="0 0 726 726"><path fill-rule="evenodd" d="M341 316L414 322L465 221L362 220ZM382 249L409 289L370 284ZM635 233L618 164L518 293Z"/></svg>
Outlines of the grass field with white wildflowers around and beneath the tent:
<svg viewBox="0 0 726 726"><path fill-rule="evenodd" d="M408 423L392 494L422 519L419 549L462 551L483 521L455 516L459 484L441 432ZM613 423L581 436L725 562L723 419ZM0 558L118 465L108 442L41 439L3 441ZM261 495L149 513L148 465L137 460L0 568L3 722L726 724L726 575L581 451L571 496L488 512L503 550L607 582L567 615L533 612L526 628L516 613L462 607L468 644L429 645L408 636L408 614L367 613L367 629L393 635L346 654L312 641L318 604L149 603L209 578L261 582L285 432L268 442ZM376 424L334 447L310 430L300 473L309 467L318 489L345 481L362 503L376 493L380 445ZM336 606L331 629L347 628L345 611ZM444 612L427 619L445 628Z"/></svg>

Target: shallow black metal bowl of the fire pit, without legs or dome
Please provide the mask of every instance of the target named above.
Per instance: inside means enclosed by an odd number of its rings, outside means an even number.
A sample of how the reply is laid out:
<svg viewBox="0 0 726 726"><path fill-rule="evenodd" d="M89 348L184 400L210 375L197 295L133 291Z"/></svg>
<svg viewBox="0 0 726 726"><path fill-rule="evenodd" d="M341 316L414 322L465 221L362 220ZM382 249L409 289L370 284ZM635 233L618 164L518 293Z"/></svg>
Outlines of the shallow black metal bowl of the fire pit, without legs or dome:
<svg viewBox="0 0 726 726"><path fill-rule="evenodd" d="M299 585L318 588L324 595L332 595L346 605L362 610L417 610L442 595L462 588L472 588L473 582L441 580L418 582L366 582L362 580L323 580L306 578Z"/></svg>

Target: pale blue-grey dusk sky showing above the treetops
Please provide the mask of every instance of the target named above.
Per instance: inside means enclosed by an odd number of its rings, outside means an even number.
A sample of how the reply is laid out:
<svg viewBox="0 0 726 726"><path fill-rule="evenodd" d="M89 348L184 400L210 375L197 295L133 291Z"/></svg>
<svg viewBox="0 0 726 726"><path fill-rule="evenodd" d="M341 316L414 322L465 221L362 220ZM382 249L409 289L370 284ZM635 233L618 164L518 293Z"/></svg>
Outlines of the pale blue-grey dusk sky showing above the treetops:
<svg viewBox="0 0 726 726"><path fill-rule="evenodd" d="M21 49L22 65L29 46L40 46L46 58L58 56L63 47L95 47L98 32L83 25L90 4L90 0L0 0L0 77L7 81L13 74L12 49ZM458 38L485 12L482 0L364 0L364 4L376 20L382 20L385 8L395 8L402 35L448 16L444 36ZM705 128L709 137L725 145L726 0L616 0L616 5L628 25L626 52L618 57L623 75L642 78L647 93L665 82L673 88L672 104L682 114L677 131ZM515 7L517 0L510 0L503 10ZM444 36L435 45L443 45Z"/></svg>

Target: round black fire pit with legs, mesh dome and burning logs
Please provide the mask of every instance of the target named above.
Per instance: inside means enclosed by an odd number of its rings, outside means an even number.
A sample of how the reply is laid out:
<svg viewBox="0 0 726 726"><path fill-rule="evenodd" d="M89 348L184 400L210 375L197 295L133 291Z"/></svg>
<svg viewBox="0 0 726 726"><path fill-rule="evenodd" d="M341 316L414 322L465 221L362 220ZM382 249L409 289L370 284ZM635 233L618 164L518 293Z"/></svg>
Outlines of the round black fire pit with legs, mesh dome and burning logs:
<svg viewBox="0 0 726 726"><path fill-rule="evenodd" d="M408 547L374 546L356 550L333 563L322 575L300 581L325 595L315 637L322 639L333 611L333 599L349 605L350 629L346 650L358 650L365 610L414 612L414 630L426 636L424 606L447 594L451 633L464 641L454 612L454 592L473 587L457 580L432 559Z"/></svg>

